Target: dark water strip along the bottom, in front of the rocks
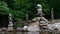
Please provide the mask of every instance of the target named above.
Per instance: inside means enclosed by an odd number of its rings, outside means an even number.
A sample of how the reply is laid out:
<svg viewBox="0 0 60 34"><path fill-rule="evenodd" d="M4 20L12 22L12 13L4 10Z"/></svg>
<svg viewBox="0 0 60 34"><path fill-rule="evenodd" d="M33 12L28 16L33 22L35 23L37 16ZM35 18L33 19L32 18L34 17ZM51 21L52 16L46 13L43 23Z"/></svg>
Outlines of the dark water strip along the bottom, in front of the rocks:
<svg viewBox="0 0 60 34"><path fill-rule="evenodd" d="M0 34L60 34L56 32L0 32Z"/></svg>

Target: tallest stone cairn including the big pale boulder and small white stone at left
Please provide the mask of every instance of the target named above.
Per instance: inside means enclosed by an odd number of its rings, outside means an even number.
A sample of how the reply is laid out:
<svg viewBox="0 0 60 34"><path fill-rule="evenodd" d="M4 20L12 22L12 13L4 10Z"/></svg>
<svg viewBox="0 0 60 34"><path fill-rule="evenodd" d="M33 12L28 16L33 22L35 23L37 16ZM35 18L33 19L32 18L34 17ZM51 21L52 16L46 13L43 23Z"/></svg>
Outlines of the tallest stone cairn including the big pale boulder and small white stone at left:
<svg viewBox="0 0 60 34"><path fill-rule="evenodd" d="M42 13L42 5L37 4L37 11L38 17L32 19L32 23L29 26L25 26L24 30L27 29L27 31L40 31L40 26L45 26L48 23L48 20L43 17ZM42 23L42 24L41 24Z"/></svg>

